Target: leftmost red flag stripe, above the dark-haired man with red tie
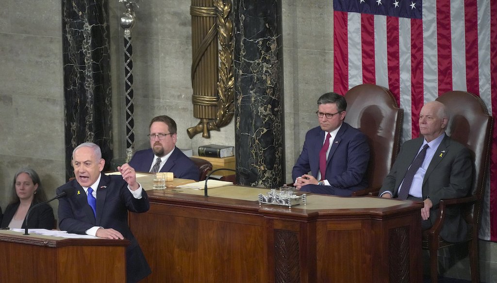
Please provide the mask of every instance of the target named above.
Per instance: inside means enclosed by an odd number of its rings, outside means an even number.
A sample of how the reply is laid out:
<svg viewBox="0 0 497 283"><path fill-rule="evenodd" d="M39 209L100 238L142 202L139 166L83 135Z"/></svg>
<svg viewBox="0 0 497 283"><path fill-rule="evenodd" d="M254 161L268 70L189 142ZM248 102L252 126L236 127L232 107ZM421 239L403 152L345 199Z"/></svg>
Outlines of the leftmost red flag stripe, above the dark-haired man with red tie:
<svg viewBox="0 0 497 283"><path fill-rule="evenodd" d="M333 12L333 91L345 94L348 90L347 13Z"/></svg>

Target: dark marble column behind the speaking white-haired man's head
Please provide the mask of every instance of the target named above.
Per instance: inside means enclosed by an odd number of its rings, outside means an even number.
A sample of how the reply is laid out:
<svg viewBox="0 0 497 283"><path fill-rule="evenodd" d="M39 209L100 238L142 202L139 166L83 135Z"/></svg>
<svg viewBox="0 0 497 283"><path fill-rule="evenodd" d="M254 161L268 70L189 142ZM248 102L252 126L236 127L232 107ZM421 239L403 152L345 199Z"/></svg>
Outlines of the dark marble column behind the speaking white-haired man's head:
<svg viewBox="0 0 497 283"><path fill-rule="evenodd" d="M111 83L107 0L62 0L66 177L73 149L94 142L105 168L112 159Z"/></svg>

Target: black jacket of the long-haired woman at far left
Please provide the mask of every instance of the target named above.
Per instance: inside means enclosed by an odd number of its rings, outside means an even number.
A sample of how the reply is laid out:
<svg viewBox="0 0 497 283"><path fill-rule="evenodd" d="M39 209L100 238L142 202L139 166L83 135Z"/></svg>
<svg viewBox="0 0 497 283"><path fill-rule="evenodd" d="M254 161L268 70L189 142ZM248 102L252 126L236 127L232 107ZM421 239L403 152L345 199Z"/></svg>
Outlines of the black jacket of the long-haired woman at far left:
<svg viewBox="0 0 497 283"><path fill-rule="evenodd" d="M20 203L10 204L5 209L5 214L1 218L1 228L8 227L10 220L14 217L17 208L19 208ZM31 207L33 204L31 204ZM1 212L0 212L1 214ZM24 219L25 221L26 219ZM28 228L45 228L53 229L55 225L54 210L48 204L40 205L34 208L28 215ZM25 222L22 222L22 227L26 228Z"/></svg>

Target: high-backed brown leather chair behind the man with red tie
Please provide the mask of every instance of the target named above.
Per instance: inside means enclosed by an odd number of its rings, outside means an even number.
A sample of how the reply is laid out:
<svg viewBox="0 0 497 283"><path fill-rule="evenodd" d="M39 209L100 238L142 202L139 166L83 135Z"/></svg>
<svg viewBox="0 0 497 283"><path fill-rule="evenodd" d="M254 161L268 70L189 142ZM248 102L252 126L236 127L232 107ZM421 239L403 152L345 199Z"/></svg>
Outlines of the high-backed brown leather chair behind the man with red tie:
<svg viewBox="0 0 497 283"><path fill-rule="evenodd" d="M370 158L366 172L369 186L352 196L379 191L383 179L397 158L402 135L404 110L392 93L379 85L360 84L345 93L345 122L361 130L369 140Z"/></svg>

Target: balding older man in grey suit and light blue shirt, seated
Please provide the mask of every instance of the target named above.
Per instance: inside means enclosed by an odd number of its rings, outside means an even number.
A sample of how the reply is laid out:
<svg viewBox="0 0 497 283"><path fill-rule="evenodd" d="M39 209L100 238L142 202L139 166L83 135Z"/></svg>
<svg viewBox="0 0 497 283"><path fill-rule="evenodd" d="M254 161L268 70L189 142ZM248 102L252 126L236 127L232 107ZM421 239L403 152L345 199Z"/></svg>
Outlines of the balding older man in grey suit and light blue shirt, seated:
<svg viewBox="0 0 497 283"><path fill-rule="evenodd" d="M438 101L426 103L419 113L419 132L424 138L402 145L380 189L383 198L422 201L423 230L436 220L440 200L467 196L473 180L470 150L445 135L447 124L445 106ZM449 242L463 240L468 228L460 210L450 209L445 215L440 236Z"/></svg>

